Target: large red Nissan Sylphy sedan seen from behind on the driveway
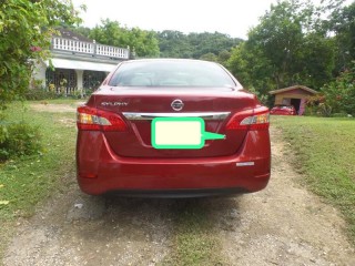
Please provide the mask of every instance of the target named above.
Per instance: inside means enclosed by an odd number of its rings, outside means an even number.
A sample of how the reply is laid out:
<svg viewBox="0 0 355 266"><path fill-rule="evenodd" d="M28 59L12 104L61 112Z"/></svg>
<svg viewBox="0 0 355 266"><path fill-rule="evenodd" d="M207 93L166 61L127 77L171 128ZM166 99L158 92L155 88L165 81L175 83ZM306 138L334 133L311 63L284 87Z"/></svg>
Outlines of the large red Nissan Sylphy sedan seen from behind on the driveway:
<svg viewBox="0 0 355 266"><path fill-rule="evenodd" d="M211 196L270 178L268 109L216 63L122 62L78 108L78 130L88 194Z"/></svg>

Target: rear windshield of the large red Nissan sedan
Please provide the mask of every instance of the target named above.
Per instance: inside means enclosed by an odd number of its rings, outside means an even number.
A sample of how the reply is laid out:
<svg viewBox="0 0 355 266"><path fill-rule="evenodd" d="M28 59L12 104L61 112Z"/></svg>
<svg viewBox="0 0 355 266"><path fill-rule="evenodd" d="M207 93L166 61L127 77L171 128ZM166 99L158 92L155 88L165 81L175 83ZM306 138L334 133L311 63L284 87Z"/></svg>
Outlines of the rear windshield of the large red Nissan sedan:
<svg viewBox="0 0 355 266"><path fill-rule="evenodd" d="M219 64L203 61L132 61L123 63L109 82L112 86L236 86Z"/></svg>

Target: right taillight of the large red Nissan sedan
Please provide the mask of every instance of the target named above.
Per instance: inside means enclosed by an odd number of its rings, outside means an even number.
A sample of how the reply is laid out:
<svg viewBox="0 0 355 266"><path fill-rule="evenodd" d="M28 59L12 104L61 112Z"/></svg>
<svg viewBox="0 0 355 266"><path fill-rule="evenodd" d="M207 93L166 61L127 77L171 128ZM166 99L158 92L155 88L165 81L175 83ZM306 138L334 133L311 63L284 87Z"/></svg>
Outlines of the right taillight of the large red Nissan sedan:
<svg viewBox="0 0 355 266"><path fill-rule="evenodd" d="M265 106L260 106L253 111L235 114L226 124L227 130L268 130L270 112Z"/></svg>

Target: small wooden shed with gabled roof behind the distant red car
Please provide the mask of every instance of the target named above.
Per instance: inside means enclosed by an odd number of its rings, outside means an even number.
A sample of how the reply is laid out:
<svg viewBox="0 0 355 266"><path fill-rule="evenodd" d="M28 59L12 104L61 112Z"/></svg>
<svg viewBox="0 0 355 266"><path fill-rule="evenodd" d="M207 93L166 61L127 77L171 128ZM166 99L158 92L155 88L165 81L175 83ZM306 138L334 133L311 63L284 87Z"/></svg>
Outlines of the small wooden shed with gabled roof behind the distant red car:
<svg viewBox="0 0 355 266"><path fill-rule="evenodd" d="M268 93L275 95L275 105L293 105L296 109L297 114L302 115L305 110L307 98L315 95L317 92L304 85L293 85L275 91L270 91Z"/></svg>

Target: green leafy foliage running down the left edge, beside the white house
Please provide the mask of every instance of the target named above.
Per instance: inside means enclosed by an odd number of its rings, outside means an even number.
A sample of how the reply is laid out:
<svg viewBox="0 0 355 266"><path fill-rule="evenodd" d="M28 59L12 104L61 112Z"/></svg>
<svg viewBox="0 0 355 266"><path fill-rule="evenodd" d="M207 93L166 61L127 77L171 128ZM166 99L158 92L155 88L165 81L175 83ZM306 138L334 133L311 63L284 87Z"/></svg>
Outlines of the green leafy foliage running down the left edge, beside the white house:
<svg viewBox="0 0 355 266"><path fill-rule="evenodd" d="M40 150L38 129L7 124L6 104L23 99L36 61L49 55L50 37L60 23L79 21L71 0L0 2L0 161Z"/></svg>

